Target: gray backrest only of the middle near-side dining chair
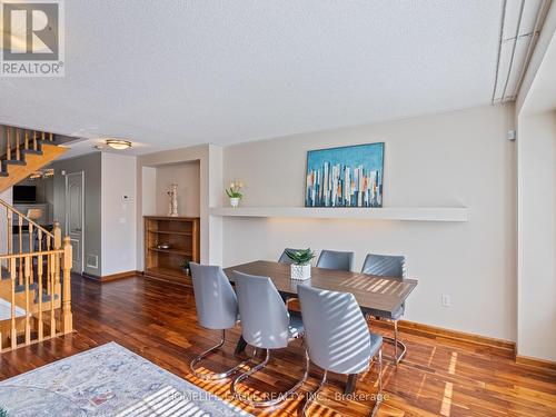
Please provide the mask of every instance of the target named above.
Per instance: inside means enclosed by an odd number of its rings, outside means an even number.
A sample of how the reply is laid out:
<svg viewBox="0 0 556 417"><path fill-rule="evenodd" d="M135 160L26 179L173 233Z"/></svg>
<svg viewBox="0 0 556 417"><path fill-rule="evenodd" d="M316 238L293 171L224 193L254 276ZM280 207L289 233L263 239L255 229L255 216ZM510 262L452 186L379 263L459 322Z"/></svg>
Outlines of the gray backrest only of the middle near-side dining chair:
<svg viewBox="0 0 556 417"><path fill-rule="evenodd" d="M288 346L289 314L268 277L234 271L244 339L262 349Z"/></svg>

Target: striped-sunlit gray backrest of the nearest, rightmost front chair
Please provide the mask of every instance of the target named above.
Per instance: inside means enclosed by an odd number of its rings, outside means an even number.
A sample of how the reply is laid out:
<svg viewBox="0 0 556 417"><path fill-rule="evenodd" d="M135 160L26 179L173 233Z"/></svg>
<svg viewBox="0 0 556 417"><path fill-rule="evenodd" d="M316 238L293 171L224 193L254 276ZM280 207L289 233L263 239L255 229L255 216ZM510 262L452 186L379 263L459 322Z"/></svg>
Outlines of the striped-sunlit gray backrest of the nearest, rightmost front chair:
<svg viewBox="0 0 556 417"><path fill-rule="evenodd" d="M367 321L353 294L299 285L305 339L311 361L338 374L366 370L371 357Z"/></svg>

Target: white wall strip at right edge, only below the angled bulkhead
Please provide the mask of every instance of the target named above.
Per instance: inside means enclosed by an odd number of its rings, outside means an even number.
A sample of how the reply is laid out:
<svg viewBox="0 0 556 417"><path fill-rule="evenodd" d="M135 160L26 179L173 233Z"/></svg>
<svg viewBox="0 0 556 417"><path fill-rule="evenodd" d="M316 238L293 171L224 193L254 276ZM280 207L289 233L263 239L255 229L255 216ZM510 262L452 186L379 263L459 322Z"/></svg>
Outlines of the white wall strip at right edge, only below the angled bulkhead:
<svg viewBox="0 0 556 417"><path fill-rule="evenodd" d="M556 111L519 117L518 355L556 361Z"/></svg>

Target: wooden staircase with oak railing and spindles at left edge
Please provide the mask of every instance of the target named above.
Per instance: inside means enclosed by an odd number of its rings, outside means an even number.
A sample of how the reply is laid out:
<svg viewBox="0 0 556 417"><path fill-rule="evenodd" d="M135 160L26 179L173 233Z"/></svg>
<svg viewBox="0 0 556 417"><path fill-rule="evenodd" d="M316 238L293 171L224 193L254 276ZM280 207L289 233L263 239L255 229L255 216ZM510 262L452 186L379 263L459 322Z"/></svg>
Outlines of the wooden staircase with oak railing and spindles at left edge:
<svg viewBox="0 0 556 417"><path fill-rule="evenodd" d="M16 127L2 133L0 192L68 150L52 133ZM0 199L0 353L72 331L72 248L60 225L39 225Z"/></svg>

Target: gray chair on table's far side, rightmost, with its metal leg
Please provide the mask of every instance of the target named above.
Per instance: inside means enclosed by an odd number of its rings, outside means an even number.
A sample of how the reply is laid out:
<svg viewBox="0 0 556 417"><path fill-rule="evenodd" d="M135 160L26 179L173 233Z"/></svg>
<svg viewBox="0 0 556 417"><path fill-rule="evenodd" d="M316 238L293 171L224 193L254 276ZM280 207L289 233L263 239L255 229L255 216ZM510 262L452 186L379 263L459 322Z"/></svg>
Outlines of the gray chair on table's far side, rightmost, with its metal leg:
<svg viewBox="0 0 556 417"><path fill-rule="evenodd" d="M404 256L369 254L363 264L361 274L404 279L406 277L406 258ZM394 322L394 338L385 337L385 340L394 344L394 361L396 365L399 364L407 351L406 345L398 340L398 321L404 316L405 308L406 306L403 304L395 311L388 315L380 310L368 312L369 316L375 316L379 319ZM399 355L398 349L401 351Z"/></svg>

